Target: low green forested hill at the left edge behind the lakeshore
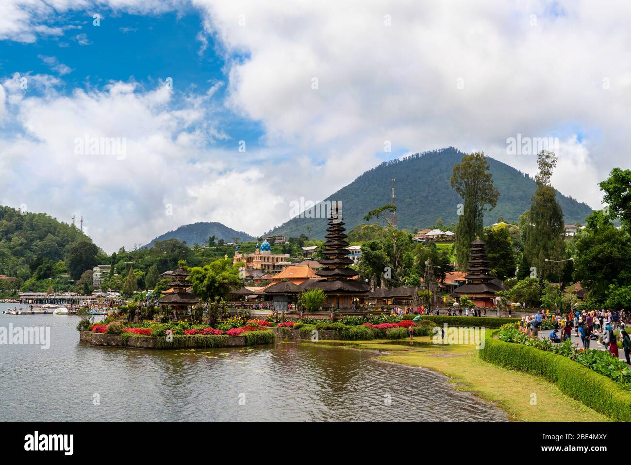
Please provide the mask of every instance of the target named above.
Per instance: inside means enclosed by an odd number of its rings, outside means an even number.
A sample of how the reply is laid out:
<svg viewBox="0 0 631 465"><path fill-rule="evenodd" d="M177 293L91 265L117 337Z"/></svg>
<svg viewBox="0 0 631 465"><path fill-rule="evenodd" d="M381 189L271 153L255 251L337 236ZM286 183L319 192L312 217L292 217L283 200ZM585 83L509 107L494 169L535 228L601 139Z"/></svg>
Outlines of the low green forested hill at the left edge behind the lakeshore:
<svg viewBox="0 0 631 465"><path fill-rule="evenodd" d="M49 215L0 206L0 274L27 281L38 269L40 277L67 273L60 262L68 258L73 245L84 242L92 241Z"/></svg>

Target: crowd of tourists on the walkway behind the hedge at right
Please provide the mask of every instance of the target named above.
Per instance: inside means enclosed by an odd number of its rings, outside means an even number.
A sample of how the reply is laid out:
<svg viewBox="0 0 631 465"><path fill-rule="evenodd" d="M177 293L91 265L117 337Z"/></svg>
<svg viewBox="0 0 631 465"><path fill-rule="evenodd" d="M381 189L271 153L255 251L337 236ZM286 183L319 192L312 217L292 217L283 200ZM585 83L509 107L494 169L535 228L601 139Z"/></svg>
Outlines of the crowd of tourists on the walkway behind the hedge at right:
<svg viewBox="0 0 631 465"><path fill-rule="evenodd" d="M519 322L519 329L531 337L539 337L539 332L544 320L549 320L551 330L548 338L552 342L563 342L572 340L572 332L581 338L585 349L589 349L591 341L599 341L609 351L610 354L618 358L618 335L616 330L620 330L620 340L627 359L627 364L631 365L631 339L626 327L631 324L631 312L591 310L569 312L550 315L550 310L539 310L536 315L522 317Z"/></svg>

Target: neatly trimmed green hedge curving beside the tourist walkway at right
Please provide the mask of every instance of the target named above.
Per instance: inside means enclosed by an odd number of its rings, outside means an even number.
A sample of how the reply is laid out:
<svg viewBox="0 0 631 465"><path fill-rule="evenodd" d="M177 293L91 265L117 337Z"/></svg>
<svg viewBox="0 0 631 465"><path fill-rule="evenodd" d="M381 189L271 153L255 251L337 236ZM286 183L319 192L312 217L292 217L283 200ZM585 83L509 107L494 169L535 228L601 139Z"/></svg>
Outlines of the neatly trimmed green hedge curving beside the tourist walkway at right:
<svg viewBox="0 0 631 465"><path fill-rule="evenodd" d="M567 396L614 420L631 421L631 392L562 355L487 337L480 358L556 383Z"/></svg>

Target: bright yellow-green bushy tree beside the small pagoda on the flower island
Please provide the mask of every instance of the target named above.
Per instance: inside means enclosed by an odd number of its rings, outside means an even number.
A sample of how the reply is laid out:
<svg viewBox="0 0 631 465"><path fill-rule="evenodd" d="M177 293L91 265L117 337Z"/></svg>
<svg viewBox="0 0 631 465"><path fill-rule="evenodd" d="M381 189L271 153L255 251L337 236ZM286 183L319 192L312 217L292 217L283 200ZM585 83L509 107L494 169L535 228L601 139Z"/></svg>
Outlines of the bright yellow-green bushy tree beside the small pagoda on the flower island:
<svg viewBox="0 0 631 465"><path fill-rule="evenodd" d="M204 301L215 298L225 299L232 287L239 287L239 268L233 266L230 258L215 260L204 267L191 269L189 279L193 294Z"/></svg>

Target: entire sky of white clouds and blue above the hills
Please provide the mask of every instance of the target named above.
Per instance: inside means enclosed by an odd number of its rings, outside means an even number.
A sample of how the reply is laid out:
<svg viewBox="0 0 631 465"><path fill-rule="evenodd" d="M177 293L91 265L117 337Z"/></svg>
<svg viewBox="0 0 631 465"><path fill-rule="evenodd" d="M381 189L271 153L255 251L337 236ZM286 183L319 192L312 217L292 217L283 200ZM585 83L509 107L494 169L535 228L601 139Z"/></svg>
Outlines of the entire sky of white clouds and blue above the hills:
<svg viewBox="0 0 631 465"><path fill-rule="evenodd" d="M630 23L627 1L2 0L0 203L83 216L108 252L259 235L414 152L534 173L521 134L556 138L553 184L598 208L629 166Z"/></svg>

